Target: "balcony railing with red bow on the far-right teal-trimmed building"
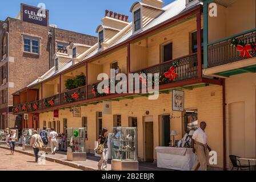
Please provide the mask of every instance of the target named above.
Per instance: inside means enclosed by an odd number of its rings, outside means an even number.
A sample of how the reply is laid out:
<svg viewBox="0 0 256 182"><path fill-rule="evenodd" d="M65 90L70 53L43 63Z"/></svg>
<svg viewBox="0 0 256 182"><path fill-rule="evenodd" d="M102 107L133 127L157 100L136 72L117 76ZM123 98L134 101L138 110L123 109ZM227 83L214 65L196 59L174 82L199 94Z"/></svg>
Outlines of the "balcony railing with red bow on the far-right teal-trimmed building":
<svg viewBox="0 0 256 182"><path fill-rule="evenodd" d="M239 43L239 48L234 44L234 40ZM246 47L248 44L254 44L254 46ZM208 68L256 57L255 48L255 30L211 43L208 46Z"/></svg>

